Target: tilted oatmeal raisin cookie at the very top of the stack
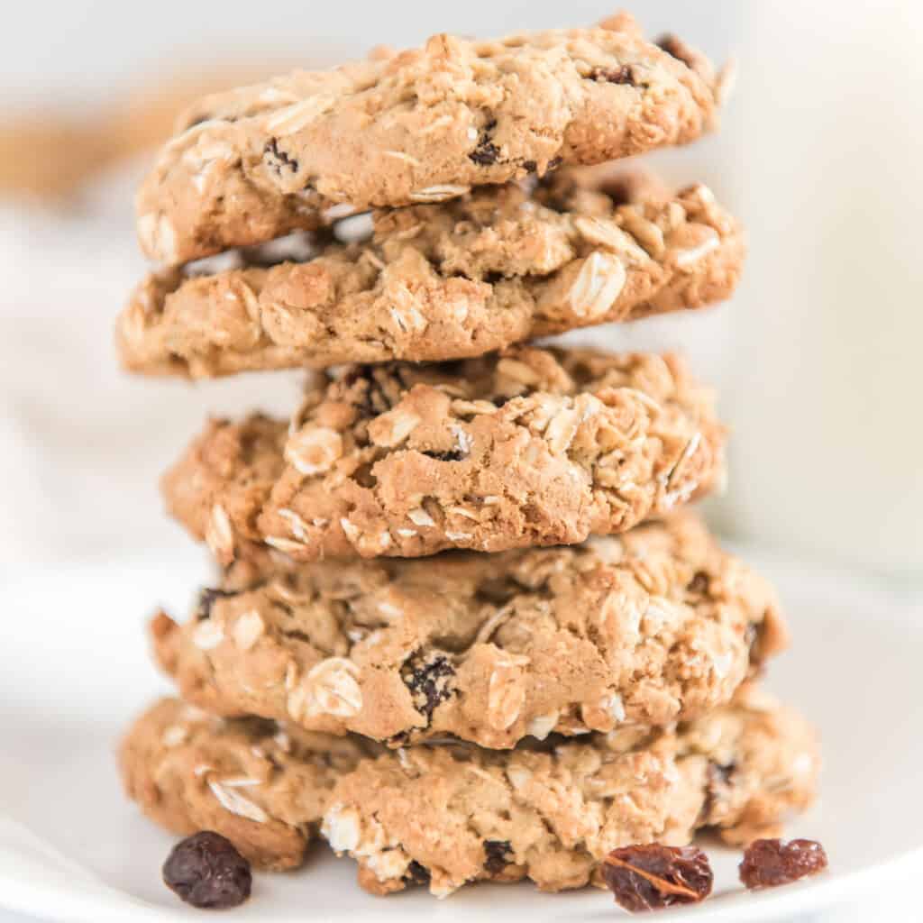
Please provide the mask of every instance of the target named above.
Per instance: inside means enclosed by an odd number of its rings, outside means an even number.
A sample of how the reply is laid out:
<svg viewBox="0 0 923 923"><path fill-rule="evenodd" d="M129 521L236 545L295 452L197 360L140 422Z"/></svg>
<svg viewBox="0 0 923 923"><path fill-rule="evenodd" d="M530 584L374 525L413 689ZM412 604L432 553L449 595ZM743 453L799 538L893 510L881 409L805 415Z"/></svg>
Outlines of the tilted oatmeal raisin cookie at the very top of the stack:
<svg viewBox="0 0 923 923"><path fill-rule="evenodd" d="M615 26L422 48L295 71L193 105L138 191L145 254L184 263L371 206L682 144L723 81L671 39Z"/></svg>

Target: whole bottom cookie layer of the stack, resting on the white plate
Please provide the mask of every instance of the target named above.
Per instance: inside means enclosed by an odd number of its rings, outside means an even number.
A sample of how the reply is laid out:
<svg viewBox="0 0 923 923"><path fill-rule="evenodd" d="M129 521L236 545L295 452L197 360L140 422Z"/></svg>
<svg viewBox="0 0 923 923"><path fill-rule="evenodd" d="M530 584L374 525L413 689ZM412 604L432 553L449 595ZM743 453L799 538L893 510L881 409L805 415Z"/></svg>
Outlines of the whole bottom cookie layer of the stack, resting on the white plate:
<svg viewBox="0 0 923 923"><path fill-rule="evenodd" d="M386 752L167 699L131 728L121 760L129 796L174 833L215 830L256 865L290 869L322 820L367 891L426 883L438 896L479 880L599 884L617 846L683 844L703 827L732 843L773 835L809 804L819 765L809 725L753 687L673 732L504 751Z"/></svg>

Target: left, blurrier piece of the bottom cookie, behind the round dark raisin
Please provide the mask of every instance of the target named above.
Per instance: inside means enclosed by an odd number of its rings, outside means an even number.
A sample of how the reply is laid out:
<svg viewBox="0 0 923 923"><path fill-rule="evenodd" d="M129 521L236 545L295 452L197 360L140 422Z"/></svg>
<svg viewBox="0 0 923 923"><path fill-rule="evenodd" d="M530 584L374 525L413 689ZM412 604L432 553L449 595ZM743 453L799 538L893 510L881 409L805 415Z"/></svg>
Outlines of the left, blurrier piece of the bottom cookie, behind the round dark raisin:
<svg viewBox="0 0 923 923"><path fill-rule="evenodd" d="M154 703L119 750L126 794L172 833L222 833L262 868L301 864L330 789L376 752L360 738L224 721L177 699Z"/></svg>

